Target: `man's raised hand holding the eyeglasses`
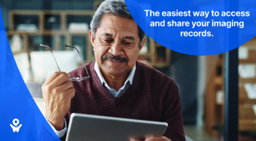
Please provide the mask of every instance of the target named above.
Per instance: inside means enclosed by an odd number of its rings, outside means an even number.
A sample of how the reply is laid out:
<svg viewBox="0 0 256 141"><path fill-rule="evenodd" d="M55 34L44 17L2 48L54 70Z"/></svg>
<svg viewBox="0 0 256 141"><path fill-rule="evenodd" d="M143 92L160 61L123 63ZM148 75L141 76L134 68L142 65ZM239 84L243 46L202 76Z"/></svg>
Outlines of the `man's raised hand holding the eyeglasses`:
<svg viewBox="0 0 256 141"><path fill-rule="evenodd" d="M53 73L43 83L42 93L45 100L45 116L57 131L61 131L64 126L64 116L68 113L71 99L75 94L69 75L64 72Z"/></svg>

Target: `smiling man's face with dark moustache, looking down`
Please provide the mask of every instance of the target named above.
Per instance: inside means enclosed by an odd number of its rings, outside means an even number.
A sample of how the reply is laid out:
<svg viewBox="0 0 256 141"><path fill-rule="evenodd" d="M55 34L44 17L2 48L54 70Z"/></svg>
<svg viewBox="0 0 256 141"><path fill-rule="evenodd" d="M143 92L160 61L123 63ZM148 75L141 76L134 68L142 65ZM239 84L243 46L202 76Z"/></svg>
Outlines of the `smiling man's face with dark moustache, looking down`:
<svg viewBox="0 0 256 141"><path fill-rule="evenodd" d="M133 68L146 39L139 46L135 20L103 15L95 38L90 31L96 61L105 75L127 75Z"/></svg>

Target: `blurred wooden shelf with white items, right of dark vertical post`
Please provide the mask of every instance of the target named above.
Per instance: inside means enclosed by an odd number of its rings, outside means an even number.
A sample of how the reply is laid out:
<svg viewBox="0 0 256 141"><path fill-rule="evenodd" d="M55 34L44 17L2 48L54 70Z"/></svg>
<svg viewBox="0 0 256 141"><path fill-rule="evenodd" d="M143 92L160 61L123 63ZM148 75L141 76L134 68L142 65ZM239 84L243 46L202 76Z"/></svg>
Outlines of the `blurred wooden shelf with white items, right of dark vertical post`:
<svg viewBox="0 0 256 141"><path fill-rule="evenodd" d="M239 131L256 135L256 37L239 47Z"/></svg>

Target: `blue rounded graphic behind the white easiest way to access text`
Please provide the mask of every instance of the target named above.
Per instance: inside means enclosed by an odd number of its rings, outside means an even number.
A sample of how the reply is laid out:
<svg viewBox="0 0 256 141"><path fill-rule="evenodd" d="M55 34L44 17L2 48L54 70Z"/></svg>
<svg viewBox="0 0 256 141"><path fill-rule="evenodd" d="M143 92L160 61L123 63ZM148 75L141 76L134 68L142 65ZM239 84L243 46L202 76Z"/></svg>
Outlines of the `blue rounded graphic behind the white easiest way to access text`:
<svg viewBox="0 0 256 141"><path fill-rule="evenodd" d="M125 2L135 22L150 38L164 47L183 54L221 54L242 46L256 35L256 1L138 0L135 3L132 0L125 0ZM148 16L146 16L145 10L148 10ZM188 10L190 16L188 16ZM159 12L158 17L156 16L157 11ZM162 16L163 11L166 12L165 17ZM212 13L212 11L214 12ZM234 11L233 15L239 11L240 16L223 17L221 15L223 11ZM167 17L167 12L174 12L174 15L183 12L183 15ZM184 16L184 12L187 12L187 17ZM201 16L194 16L193 12L200 12ZM218 13L219 15L216 16ZM153 14L155 16L152 16ZM145 22L142 18L145 19ZM160 25L151 25L156 22L159 22ZM175 22L177 22L176 26ZM178 22L183 22L183 26L178 26ZM186 26L185 22L189 22L189 26ZM192 22L198 26L193 28ZM204 26L207 25L207 22L208 26ZM218 25L219 22L222 26ZM223 26L223 22L226 23L225 26ZM212 26L212 23L215 26Z"/></svg>

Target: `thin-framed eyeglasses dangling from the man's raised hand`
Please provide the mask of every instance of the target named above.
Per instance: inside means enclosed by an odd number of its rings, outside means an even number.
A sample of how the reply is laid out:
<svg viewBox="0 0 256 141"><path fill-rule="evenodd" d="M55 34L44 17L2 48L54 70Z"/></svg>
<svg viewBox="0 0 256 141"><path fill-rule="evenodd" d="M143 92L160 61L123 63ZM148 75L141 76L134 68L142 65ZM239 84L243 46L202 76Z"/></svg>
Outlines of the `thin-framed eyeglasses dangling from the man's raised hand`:
<svg viewBox="0 0 256 141"><path fill-rule="evenodd" d="M51 54L53 55L53 50L51 50L51 47L45 46L45 45L43 45L43 44L40 44L40 46L47 47L48 49L50 49ZM66 44L65 44L65 47L72 47L73 49L76 49L76 47L68 46L68 45L66 45ZM82 60L82 57L81 57L81 55L80 55L78 49L76 49L76 51L77 51L77 53L79 54L79 57L80 57L81 60ZM55 60L56 65L58 66L59 71L61 71L54 55L53 55L53 58L54 58L54 60ZM82 64L84 65L84 61L83 61L83 60L82 60ZM86 68L86 65L84 65L84 68ZM86 69L86 72L87 72L87 75L88 75L88 76L86 76L86 77L82 77L82 78L77 77L77 78L69 78L69 79L70 79L70 81L78 81L78 82L83 81L83 80L85 80L85 79L88 79L88 78L90 78L90 75L89 75L87 69Z"/></svg>

